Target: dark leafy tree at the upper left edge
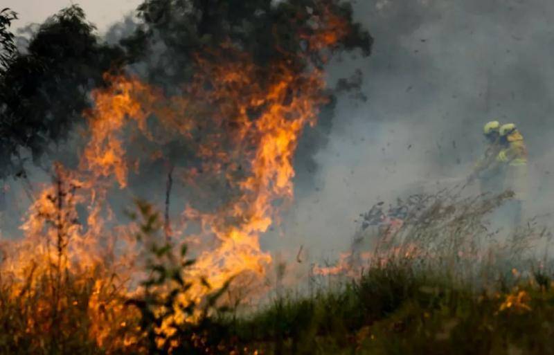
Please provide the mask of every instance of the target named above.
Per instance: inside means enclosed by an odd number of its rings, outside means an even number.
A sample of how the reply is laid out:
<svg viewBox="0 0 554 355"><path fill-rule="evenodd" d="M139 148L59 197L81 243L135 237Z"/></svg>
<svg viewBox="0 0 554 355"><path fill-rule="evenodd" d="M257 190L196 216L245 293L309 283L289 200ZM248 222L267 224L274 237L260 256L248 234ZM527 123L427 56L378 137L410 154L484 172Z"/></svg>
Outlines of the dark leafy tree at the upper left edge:
<svg viewBox="0 0 554 355"><path fill-rule="evenodd" d="M0 177L21 174L21 148L39 162L51 143L82 122L89 91L104 84L102 74L122 53L99 44L94 29L71 6L40 26L28 53L10 60L0 76Z"/></svg>

